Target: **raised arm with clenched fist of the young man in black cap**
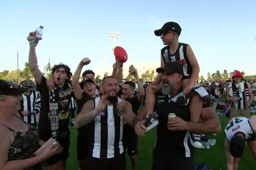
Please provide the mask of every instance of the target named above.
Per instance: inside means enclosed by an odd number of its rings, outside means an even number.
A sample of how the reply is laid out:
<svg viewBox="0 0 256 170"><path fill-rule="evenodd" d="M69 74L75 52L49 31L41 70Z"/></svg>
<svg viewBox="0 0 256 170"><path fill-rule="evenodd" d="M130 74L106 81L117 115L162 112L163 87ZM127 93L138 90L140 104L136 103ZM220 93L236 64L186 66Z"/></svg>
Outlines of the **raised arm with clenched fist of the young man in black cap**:
<svg viewBox="0 0 256 170"><path fill-rule="evenodd" d="M80 79L80 75L81 75L81 72L82 72L82 68L83 68L83 66L90 64L90 62L91 62L91 60L89 58L82 59L80 61L80 63L78 64L77 69L75 70L75 74L74 74L73 79L72 79L72 87L73 87L73 90L74 90L75 98L77 100L81 100L82 97L83 97L82 90L81 90L81 87L79 85L79 79Z"/></svg>

